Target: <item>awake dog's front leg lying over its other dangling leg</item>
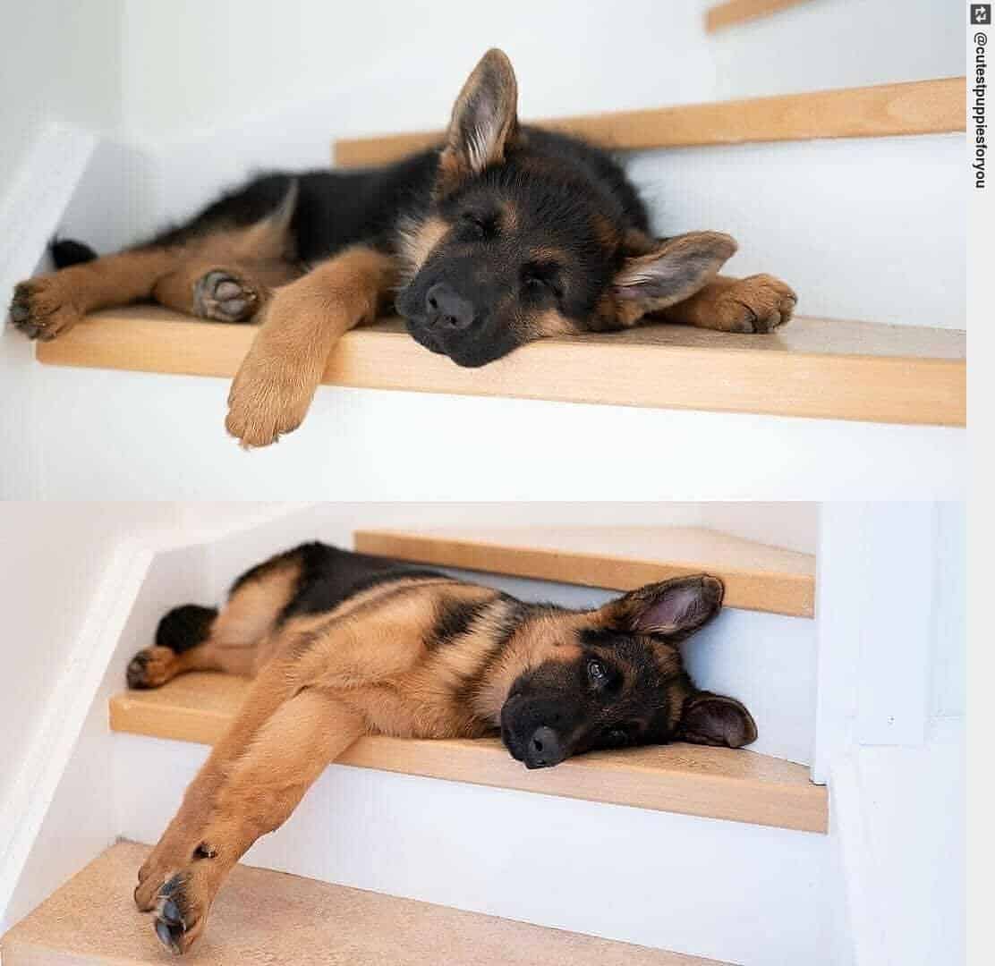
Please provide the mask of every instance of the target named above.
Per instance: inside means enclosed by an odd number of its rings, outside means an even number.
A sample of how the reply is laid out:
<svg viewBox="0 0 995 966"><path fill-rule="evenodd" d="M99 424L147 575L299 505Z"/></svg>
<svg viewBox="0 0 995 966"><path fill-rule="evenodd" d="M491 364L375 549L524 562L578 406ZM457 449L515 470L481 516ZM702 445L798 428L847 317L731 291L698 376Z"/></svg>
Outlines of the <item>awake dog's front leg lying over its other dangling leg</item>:
<svg viewBox="0 0 995 966"><path fill-rule="evenodd" d="M190 948L228 873L287 821L324 767L365 730L359 712L316 688L301 690L266 722L219 788L193 854L159 890L155 934L167 949Z"/></svg>

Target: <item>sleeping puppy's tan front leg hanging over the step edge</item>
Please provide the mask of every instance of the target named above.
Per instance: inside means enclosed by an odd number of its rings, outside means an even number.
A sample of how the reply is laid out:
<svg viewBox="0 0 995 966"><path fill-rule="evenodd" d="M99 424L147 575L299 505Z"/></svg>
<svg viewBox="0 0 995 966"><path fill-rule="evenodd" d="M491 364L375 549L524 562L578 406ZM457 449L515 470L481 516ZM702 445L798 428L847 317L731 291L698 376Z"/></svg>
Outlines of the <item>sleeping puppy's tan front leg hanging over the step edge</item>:
<svg viewBox="0 0 995 966"><path fill-rule="evenodd" d="M376 316L395 279L390 256L356 246L276 290L232 383L228 432L252 447L297 429L335 343Z"/></svg>

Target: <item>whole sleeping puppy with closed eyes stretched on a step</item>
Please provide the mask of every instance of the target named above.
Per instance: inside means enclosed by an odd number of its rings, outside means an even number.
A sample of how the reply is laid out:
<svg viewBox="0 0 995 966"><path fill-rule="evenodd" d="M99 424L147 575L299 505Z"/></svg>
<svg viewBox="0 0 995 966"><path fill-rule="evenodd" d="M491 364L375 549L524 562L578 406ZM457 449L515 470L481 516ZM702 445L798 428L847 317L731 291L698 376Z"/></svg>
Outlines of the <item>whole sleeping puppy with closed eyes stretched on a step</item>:
<svg viewBox="0 0 995 966"><path fill-rule="evenodd" d="M364 171L271 174L148 244L96 258L55 243L63 271L19 285L11 317L51 339L86 312L153 299L221 321L258 318L229 396L228 431L266 446L296 429L328 355L391 304L433 352L481 366L524 342L652 317L729 332L786 322L795 293L716 273L717 232L650 235L618 162L518 123L500 51L485 55L438 148Z"/></svg>

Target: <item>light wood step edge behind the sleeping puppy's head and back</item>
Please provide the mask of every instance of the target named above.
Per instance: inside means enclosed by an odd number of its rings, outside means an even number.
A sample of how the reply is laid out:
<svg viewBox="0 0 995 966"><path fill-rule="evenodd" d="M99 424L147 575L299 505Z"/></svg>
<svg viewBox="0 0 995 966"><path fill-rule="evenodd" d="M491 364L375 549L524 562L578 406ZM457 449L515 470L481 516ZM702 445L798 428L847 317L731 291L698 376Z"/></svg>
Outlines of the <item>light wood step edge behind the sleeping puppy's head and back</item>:
<svg viewBox="0 0 995 966"><path fill-rule="evenodd" d="M965 97L965 78L938 78L649 110L617 110L535 123L619 150L936 134L965 130ZM441 130L433 130L342 138L334 142L332 158L341 168L385 164L438 144L442 134Z"/></svg>

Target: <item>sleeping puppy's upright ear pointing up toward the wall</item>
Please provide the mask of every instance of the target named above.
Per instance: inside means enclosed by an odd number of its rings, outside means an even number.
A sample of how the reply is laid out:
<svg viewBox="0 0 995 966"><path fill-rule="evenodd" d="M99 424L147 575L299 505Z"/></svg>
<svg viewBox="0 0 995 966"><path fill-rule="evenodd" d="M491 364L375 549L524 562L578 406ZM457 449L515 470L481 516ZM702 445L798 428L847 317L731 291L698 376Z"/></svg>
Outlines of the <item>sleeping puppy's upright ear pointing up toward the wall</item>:
<svg viewBox="0 0 995 966"><path fill-rule="evenodd" d="M493 48L481 58L453 105L440 158L448 186L500 164L518 128L518 85L511 62Z"/></svg>

